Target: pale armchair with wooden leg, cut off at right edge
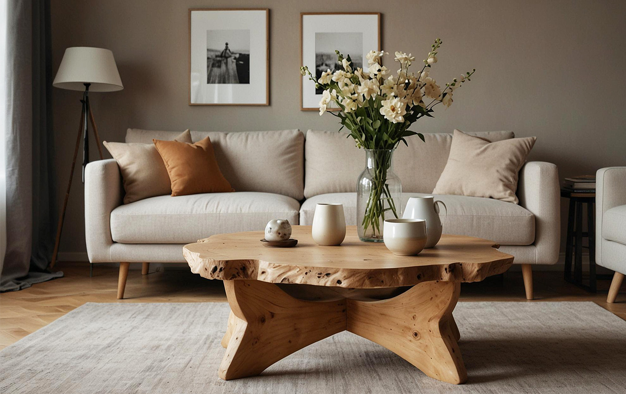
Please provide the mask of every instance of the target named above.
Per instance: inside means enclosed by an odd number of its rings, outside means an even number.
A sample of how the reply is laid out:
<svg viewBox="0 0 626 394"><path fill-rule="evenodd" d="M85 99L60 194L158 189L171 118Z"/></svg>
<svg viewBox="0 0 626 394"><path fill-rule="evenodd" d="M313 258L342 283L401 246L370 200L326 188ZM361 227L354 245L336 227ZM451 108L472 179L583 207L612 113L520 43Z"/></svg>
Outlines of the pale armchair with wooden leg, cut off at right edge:
<svg viewBox="0 0 626 394"><path fill-rule="evenodd" d="M615 302L626 273L626 167L596 173L595 262L615 271L607 302Z"/></svg>

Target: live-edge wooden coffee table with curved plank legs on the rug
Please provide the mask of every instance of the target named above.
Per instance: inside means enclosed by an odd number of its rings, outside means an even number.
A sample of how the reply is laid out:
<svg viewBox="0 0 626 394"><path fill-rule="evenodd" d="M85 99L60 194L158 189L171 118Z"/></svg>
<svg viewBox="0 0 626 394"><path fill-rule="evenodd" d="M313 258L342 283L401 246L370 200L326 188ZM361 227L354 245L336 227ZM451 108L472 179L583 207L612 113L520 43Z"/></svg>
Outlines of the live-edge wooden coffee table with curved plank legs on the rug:
<svg viewBox="0 0 626 394"><path fill-rule="evenodd" d="M359 241L318 246L294 226L294 248L267 248L263 231L214 235L186 245L194 273L224 281L230 316L219 376L259 375L285 356L347 330L378 343L426 375L464 383L452 311L460 283L506 271L513 256L492 241L443 235L419 256Z"/></svg>

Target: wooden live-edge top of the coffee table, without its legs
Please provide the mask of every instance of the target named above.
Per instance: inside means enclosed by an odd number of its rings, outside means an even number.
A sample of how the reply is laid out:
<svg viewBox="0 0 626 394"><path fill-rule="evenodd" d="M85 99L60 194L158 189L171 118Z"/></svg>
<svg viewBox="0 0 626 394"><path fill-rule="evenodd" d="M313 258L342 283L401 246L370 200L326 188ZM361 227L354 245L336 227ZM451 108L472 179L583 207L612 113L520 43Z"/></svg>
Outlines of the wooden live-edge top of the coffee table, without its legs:
<svg viewBox="0 0 626 394"><path fill-rule="evenodd" d="M344 288L411 286L423 281L481 281L508 270L513 256L493 241L442 235L418 256L396 256L383 243L359 240L347 226L341 246L319 246L310 226L294 226L293 248L268 248L263 231L213 235L183 248L194 273L218 280L249 279Z"/></svg>

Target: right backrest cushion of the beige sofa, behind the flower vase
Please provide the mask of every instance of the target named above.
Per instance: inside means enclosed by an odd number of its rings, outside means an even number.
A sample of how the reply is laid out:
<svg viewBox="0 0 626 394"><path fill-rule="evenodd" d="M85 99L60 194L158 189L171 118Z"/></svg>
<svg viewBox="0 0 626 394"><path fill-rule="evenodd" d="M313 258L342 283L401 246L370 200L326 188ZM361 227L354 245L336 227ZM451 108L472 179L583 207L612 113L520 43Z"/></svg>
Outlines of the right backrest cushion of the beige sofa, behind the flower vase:
<svg viewBox="0 0 626 394"><path fill-rule="evenodd" d="M511 131L468 134L491 142L514 137ZM306 198L356 191L357 178L365 168L365 153L356 148L354 139L346 136L346 133L337 131L307 131L304 148ZM448 161L451 133L424 134L424 139L426 143L418 136L407 138L409 146L400 143L394 154L394 171L404 192L432 193Z"/></svg>

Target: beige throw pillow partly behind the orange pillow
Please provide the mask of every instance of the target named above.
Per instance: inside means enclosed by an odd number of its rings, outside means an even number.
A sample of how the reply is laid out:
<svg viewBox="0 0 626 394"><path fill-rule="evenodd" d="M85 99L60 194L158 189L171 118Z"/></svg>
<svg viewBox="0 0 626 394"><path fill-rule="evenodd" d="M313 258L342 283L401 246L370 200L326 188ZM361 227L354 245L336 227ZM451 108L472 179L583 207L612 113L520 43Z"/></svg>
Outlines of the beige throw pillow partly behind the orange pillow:
<svg viewBox="0 0 626 394"><path fill-rule="evenodd" d="M174 141L191 143L192 134L183 131ZM123 179L124 203L172 193L170 176L154 144L103 142L111 156L118 162Z"/></svg>

